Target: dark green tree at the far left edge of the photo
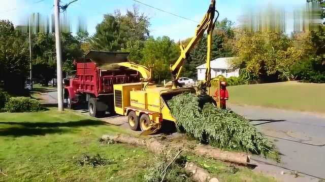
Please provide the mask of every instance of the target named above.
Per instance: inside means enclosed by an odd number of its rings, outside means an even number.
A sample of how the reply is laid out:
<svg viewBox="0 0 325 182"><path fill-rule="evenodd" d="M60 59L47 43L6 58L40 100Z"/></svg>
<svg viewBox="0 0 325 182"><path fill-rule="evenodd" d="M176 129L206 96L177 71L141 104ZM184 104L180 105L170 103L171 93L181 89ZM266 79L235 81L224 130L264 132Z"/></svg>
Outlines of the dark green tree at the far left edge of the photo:
<svg viewBox="0 0 325 182"><path fill-rule="evenodd" d="M7 20L0 20L0 72L4 88L20 93L28 71L27 36Z"/></svg>

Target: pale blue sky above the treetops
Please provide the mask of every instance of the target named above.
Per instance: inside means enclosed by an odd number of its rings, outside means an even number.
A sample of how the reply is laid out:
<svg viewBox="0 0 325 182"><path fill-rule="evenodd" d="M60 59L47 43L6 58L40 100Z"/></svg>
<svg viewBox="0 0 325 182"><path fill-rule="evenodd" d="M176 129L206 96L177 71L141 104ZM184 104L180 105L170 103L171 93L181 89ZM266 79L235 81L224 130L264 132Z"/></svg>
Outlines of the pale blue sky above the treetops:
<svg viewBox="0 0 325 182"><path fill-rule="evenodd" d="M0 19L9 19L14 24L21 24L22 20L30 13L41 13L50 16L53 12L53 0L1 0ZM72 0L62 0L62 4ZM177 15L200 21L209 7L210 0L139 0L145 4L166 10ZM40 2L40 3L37 3ZM267 8L270 4L281 7L290 13L294 8L303 6L306 0L219 0L217 10L220 13L219 20L228 18L238 24L238 19L248 8L253 10ZM133 0L79 0L72 4L67 15L72 24L72 31L75 31L78 17L87 22L87 29L90 34L95 31L96 24L103 20L103 14L114 13L120 10L132 9L137 5L141 12L150 17L151 35L170 36L174 40L190 37L194 33L197 23L184 20L155 9L138 4Z"/></svg>

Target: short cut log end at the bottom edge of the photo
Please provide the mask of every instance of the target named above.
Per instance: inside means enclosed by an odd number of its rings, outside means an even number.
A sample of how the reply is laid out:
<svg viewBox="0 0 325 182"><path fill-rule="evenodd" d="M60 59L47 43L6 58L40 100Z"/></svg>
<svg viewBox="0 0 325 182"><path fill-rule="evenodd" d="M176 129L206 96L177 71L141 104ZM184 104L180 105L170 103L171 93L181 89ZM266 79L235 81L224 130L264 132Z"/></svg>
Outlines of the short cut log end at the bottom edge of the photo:
<svg viewBox="0 0 325 182"><path fill-rule="evenodd" d="M184 169L192 174L192 179L195 181L219 182L219 180L211 176L207 170L202 169L193 162L186 162Z"/></svg>

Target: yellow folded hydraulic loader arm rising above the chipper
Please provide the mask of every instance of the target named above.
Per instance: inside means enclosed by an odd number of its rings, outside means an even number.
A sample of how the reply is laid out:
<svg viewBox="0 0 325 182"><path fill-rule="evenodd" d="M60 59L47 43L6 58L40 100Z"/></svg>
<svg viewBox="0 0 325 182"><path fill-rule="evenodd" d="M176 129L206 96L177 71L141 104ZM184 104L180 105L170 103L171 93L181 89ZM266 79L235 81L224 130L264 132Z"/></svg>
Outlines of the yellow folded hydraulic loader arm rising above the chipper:
<svg viewBox="0 0 325 182"><path fill-rule="evenodd" d="M180 46L181 49L181 55L176 61L174 65L171 65L171 72L172 72L172 80L173 80L173 88L179 86L177 80L180 77L183 65L185 60L189 57L190 51L193 49L193 47L196 45L198 40L203 36L204 32L207 31L207 39L208 39L208 45L207 45L207 64L206 64L206 76L205 81L203 83L204 88L207 88L208 94L210 94L210 80L211 80L211 68L210 68L210 61L211 61L211 46L212 46L212 34L215 27L215 22L217 18L214 20L214 15L216 11L215 8L215 0L211 1L210 7L204 18L202 19L201 23L198 25L195 31L195 35L190 40L190 42L187 44L186 48L184 45Z"/></svg>

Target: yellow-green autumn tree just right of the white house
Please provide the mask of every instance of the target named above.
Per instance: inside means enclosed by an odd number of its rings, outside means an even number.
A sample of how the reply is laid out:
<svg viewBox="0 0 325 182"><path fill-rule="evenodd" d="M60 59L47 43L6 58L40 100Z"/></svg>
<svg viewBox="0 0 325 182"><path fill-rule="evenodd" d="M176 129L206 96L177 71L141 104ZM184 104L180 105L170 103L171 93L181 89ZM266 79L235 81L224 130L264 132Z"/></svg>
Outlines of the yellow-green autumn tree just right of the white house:
<svg viewBox="0 0 325 182"><path fill-rule="evenodd" d="M242 33L235 43L238 56L234 62L245 68L259 82L273 82L291 78L290 67L306 56L284 33Z"/></svg>

